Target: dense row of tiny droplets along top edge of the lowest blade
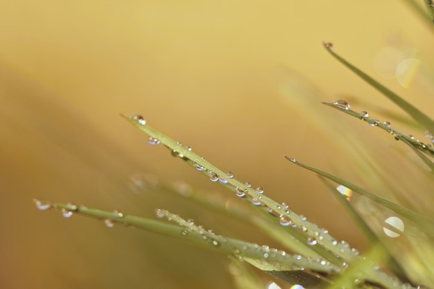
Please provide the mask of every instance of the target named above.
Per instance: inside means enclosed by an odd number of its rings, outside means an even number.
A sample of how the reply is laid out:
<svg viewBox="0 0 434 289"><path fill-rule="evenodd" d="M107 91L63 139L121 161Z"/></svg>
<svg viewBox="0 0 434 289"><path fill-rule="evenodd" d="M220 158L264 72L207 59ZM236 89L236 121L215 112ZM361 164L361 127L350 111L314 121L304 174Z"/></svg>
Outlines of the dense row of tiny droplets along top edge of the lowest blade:
<svg viewBox="0 0 434 289"><path fill-rule="evenodd" d="M212 230L207 230L203 226L196 225L193 219L185 220L180 216L166 211L164 209L156 209L155 215L157 218L166 218L169 222L176 222L182 228L182 236L188 236L189 232L195 231L202 236L202 240L206 240L214 247L225 246L229 248L231 253L235 256L240 256L243 258L255 258L261 259L263 265L268 262L277 262L281 264L290 265L291 270L304 270L304 268L309 268L310 270L316 270L319 272L338 272L340 269L336 266L331 265L329 262L323 259L311 259L305 258L304 256L295 254L290 255L285 251L270 248L268 245L258 245L252 243L246 243L239 240L229 240L224 236L220 236L214 233Z"/></svg>

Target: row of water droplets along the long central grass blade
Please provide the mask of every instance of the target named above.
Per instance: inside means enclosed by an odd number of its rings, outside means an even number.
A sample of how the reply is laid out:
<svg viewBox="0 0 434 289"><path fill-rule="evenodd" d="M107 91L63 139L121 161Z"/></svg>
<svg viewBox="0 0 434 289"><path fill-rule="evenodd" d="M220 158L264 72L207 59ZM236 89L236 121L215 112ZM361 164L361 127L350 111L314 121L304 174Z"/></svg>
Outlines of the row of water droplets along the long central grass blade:
<svg viewBox="0 0 434 289"><path fill-rule="evenodd" d="M146 125L146 121L144 121L142 116L134 115L131 119L137 121L140 125ZM151 137L153 138L153 136L150 136L150 138ZM153 143L157 144L160 143L160 141L155 141L155 139L153 139L151 144ZM168 146L167 143L164 143L164 145ZM182 147L182 143L177 142L177 146ZM266 209L268 213L278 218L279 223L282 226L290 226L302 231L304 235L307 236L307 245L323 245L331 252L336 254L336 257L343 257L344 261L342 261L342 264L344 265L347 264L346 261L354 261L354 259L358 257L358 251L349 247L346 241L342 240L341 242L338 242L338 240L328 234L327 229L320 229L317 225L309 222L305 216L299 216L297 213L290 211L288 209L288 204L285 202L279 204L263 195L263 188L261 186L257 186L256 189L252 189L252 184L250 182L245 182L244 184L239 182L238 180L234 179L234 174L232 172L223 173L221 170L218 170L218 168L206 161L205 157L198 157L196 154L194 154L191 150L191 147L189 146L182 148L186 148L191 156L195 155L195 157L200 159L200 161L191 161L189 157L186 157L186 155L179 152L180 148L168 148L171 149L172 155L175 157L181 157L184 160L190 161L190 164L196 167L196 170L209 175L211 182L220 182L225 186L229 186L232 188L237 197L247 198L255 206ZM296 160L293 158L288 159L290 161L296 162Z"/></svg>

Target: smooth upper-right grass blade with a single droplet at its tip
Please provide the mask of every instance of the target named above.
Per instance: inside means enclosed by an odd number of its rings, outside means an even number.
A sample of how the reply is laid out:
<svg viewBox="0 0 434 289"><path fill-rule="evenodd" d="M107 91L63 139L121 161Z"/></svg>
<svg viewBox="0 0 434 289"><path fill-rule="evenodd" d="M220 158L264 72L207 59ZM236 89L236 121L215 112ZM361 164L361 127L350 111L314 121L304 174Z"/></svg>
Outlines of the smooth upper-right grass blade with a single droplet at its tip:
<svg viewBox="0 0 434 289"><path fill-rule="evenodd" d="M344 58L340 57L340 55L333 52L331 44L324 44L327 51L336 58L340 63L344 64L347 68L349 68L351 71L356 73L359 77L361 77L363 80L365 80L367 83L372 85L375 89L380 91L382 94L384 94L386 97L388 97L390 100L392 100L394 103L396 103L399 107L401 107L402 110L406 111L417 123L422 125L426 130L428 130L431 133L434 133L434 121L430 119L426 114L418 110L416 107L408 103L406 100L395 94L393 91L385 87L384 85L381 85L381 83L374 80L374 78L368 76L365 72L361 71L357 67L355 67L353 64L347 62Z"/></svg>

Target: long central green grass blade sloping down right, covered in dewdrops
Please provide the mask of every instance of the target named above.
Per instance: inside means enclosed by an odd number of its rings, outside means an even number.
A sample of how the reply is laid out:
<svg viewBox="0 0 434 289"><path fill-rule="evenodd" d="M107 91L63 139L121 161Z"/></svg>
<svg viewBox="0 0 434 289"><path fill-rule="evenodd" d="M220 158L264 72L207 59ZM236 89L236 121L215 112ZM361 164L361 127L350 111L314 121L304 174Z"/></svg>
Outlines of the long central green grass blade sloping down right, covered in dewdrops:
<svg viewBox="0 0 434 289"><path fill-rule="evenodd" d="M285 229L288 234L299 240L300 243L309 249L312 249L315 253L323 256L327 261L340 265L342 260L351 263L359 258L359 256L351 251L351 248L345 246L345 244L339 243L335 238L330 236L327 231L309 222L304 216L290 211L288 207L282 206L282 204L268 198L262 192L259 193L250 188L250 186L246 186L245 183L236 179L232 173L228 176L228 173L223 172L223 170L220 170L214 166L214 164L196 155L191 149L182 146L162 132L150 127L150 125L144 121L143 117L137 115L131 118L127 116L124 117L132 123L132 125L146 132L153 142L157 139L158 142L164 144L164 146L171 150L172 155L180 157L186 161L186 163L195 166L197 169L200 168L200 172L207 175L211 181L223 184L232 192L235 192L238 197L248 200L249 202L255 199L259 200L261 205L256 206L256 209L272 219L273 222L280 222L282 228ZM268 211L270 213L268 213Z"/></svg>

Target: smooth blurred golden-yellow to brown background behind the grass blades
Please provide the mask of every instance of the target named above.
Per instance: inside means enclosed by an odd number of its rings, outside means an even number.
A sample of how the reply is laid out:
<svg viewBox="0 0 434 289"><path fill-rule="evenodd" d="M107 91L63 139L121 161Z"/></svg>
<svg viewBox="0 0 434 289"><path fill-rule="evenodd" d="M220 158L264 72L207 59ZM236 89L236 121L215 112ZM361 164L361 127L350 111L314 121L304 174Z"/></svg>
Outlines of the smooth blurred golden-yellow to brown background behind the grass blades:
<svg viewBox="0 0 434 289"><path fill-rule="evenodd" d="M0 287L232 286L226 256L146 231L40 212L32 198L150 218L162 207L217 233L274 244L170 195L134 193L131 177L152 173L160 182L235 198L165 148L148 146L121 113L142 114L223 170L363 248L365 240L318 178L283 156L375 188L344 148L351 141L376 148L393 168L390 148L399 144L320 102L357 99L355 110L367 110L363 104L398 110L333 60L322 41L433 112L427 101L432 37L400 1L1 1ZM381 61L391 55L381 54L385 47L421 60L409 87L381 75Z"/></svg>

